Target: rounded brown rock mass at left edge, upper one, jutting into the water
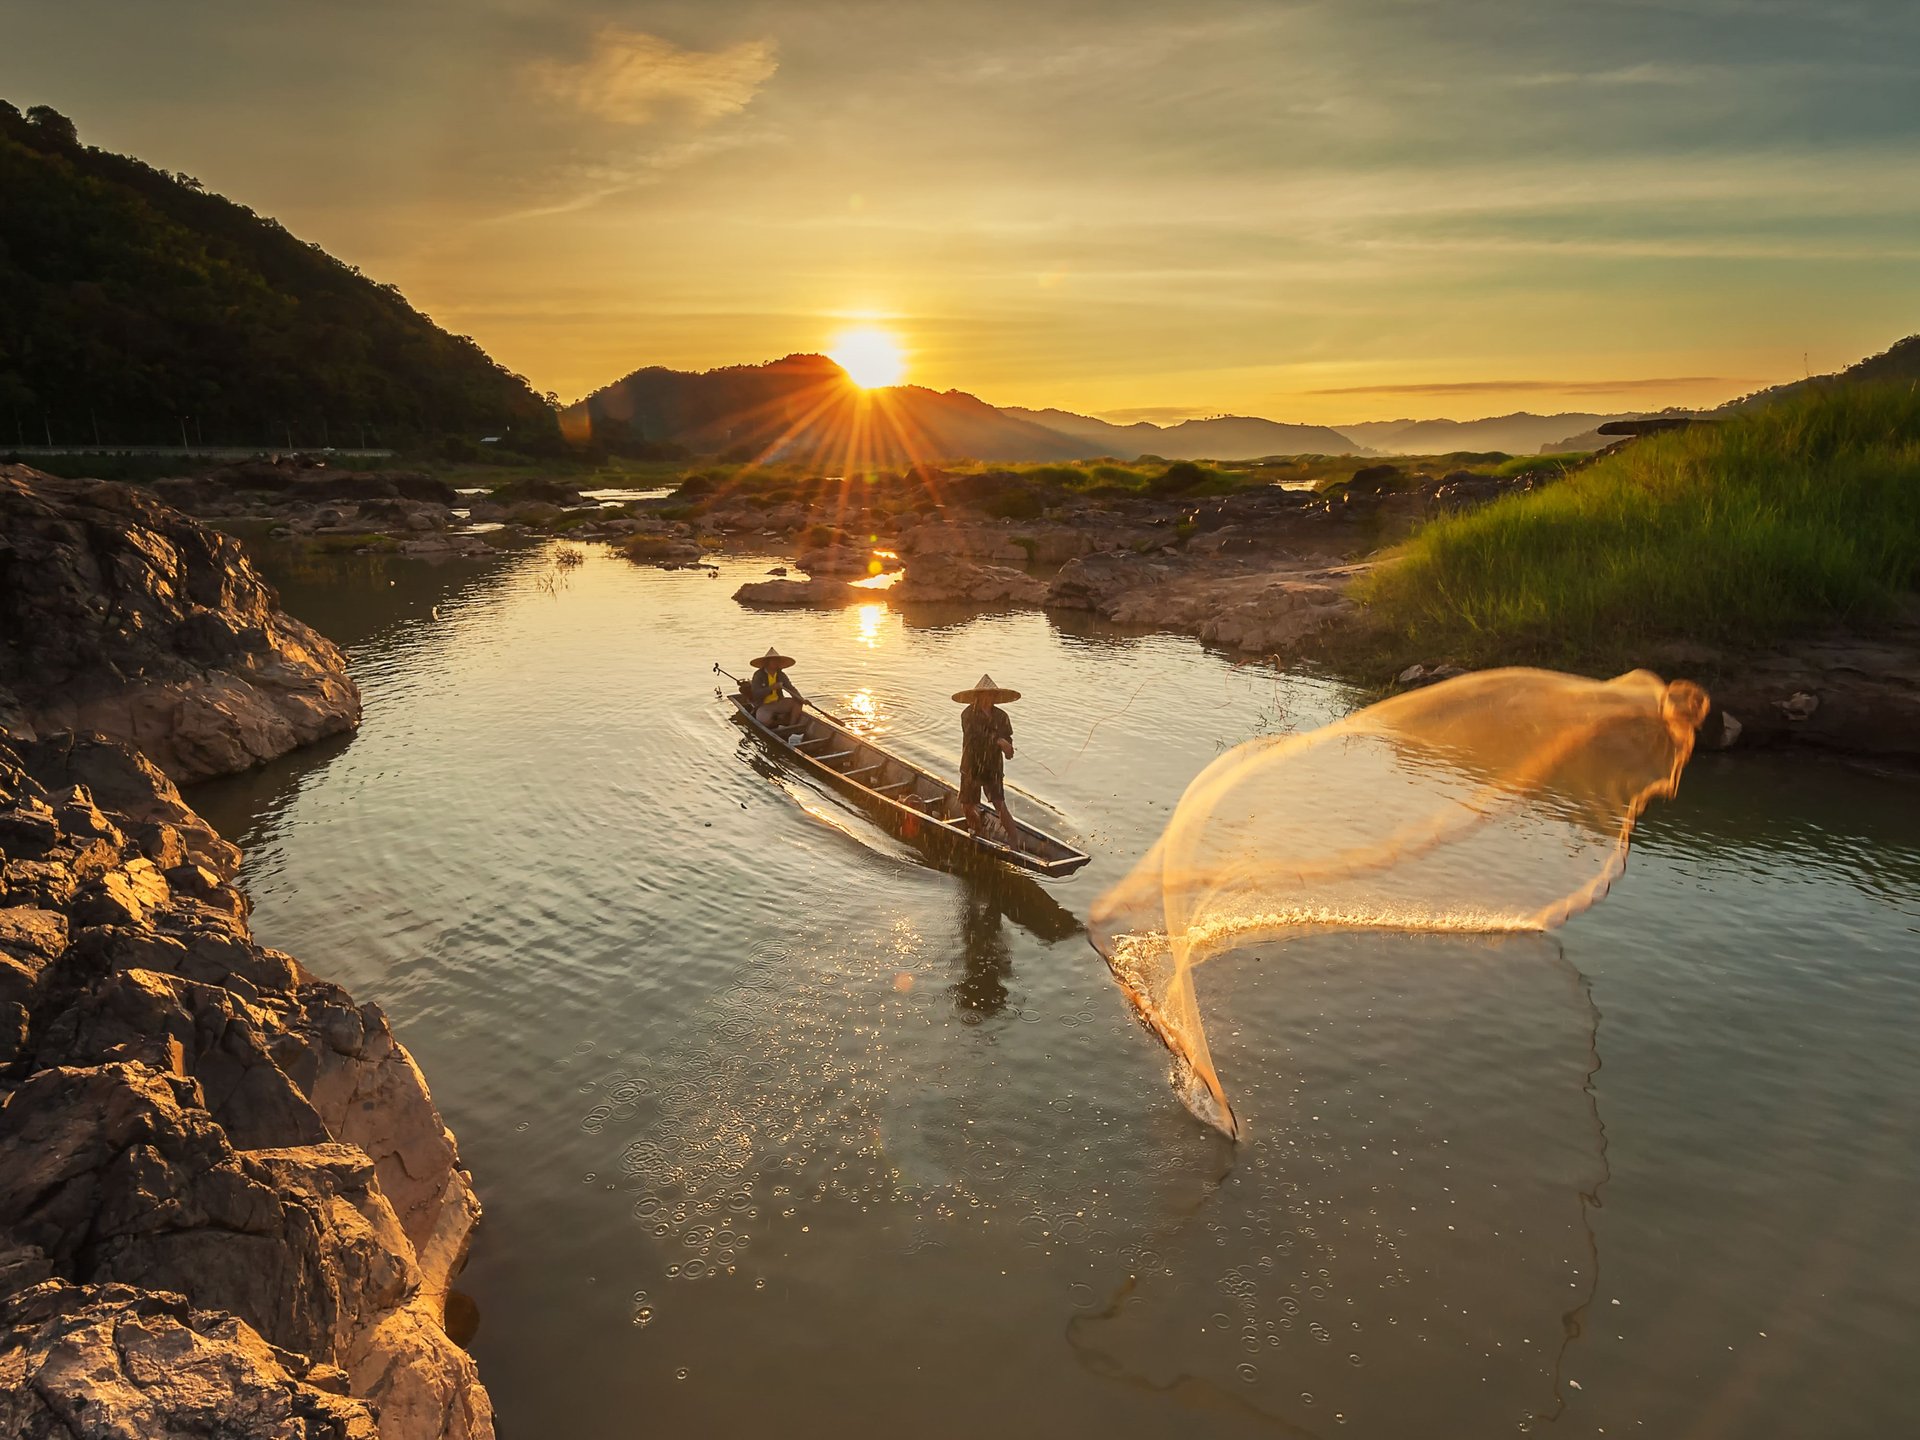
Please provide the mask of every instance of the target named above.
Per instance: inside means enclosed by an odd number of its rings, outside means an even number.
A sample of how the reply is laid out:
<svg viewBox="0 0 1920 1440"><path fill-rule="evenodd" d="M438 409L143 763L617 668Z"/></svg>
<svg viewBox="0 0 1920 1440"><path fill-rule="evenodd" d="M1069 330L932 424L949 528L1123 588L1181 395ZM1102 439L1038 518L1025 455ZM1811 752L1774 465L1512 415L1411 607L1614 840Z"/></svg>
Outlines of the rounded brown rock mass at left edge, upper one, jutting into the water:
<svg viewBox="0 0 1920 1440"><path fill-rule="evenodd" d="M186 783L359 714L240 541L132 486L0 467L0 726L102 732Z"/></svg>

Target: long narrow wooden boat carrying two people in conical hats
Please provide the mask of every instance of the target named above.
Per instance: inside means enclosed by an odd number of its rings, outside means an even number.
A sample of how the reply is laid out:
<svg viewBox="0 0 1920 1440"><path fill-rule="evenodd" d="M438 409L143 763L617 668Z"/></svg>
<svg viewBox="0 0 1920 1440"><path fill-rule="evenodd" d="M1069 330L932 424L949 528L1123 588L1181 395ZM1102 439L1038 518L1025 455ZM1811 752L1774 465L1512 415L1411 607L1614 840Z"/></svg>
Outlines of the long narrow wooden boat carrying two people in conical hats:
<svg viewBox="0 0 1920 1440"><path fill-rule="evenodd" d="M991 806L981 818L993 833L972 833L954 785L862 739L810 705L793 726L762 726L745 695L726 699L733 707L733 718L770 751L852 799L895 835L920 845L945 864L1000 860L1041 876L1071 876L1092 858L1018 816L1014 826L1020 843L1008 845L1000 818Z"/></svg>

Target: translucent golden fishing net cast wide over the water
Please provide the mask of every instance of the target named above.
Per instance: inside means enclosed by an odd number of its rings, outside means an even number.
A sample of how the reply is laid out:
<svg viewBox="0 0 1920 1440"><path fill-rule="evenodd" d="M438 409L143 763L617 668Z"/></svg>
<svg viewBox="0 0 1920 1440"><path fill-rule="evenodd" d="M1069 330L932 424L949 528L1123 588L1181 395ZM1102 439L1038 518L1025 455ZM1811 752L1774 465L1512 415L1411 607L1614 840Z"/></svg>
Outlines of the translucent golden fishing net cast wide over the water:
<svg viewBox="0 0 1920 1440"><path fill-rule="evenodd" d="M1202 770L1089 931L1173 1087L1238 1135L1192 968L1308 929L1538 931L1594 904L1672 795L1707 693L1645 670L1482 670Z"/></svg>

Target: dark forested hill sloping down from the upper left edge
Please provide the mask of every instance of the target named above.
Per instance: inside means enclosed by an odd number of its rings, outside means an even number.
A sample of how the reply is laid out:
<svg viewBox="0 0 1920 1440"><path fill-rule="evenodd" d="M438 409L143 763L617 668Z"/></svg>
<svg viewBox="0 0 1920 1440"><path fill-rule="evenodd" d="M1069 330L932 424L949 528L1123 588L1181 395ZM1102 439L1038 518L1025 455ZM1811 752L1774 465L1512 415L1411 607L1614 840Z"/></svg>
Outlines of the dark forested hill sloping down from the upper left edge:
<svg viewBox="0 0 1920 1440"><path fill-rule="evenodd" d="M551 405L278 221L0 100L0 445L557 440Z"/></svg>

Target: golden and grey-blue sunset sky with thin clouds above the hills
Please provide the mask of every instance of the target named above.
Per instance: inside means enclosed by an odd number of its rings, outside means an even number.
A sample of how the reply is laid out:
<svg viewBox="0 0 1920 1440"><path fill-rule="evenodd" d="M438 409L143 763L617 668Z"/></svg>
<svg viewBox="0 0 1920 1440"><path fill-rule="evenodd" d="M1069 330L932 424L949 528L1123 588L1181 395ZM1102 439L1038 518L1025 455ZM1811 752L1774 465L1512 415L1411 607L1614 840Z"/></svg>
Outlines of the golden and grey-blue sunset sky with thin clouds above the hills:
<svg viewBox="0 0 1920 1440"><path fill-rule="evenodd" d="M538 390L1707 405L1920 330L1914 0L0 0L0 98ZM4 196L0 196L4 204Z"/></svg>

